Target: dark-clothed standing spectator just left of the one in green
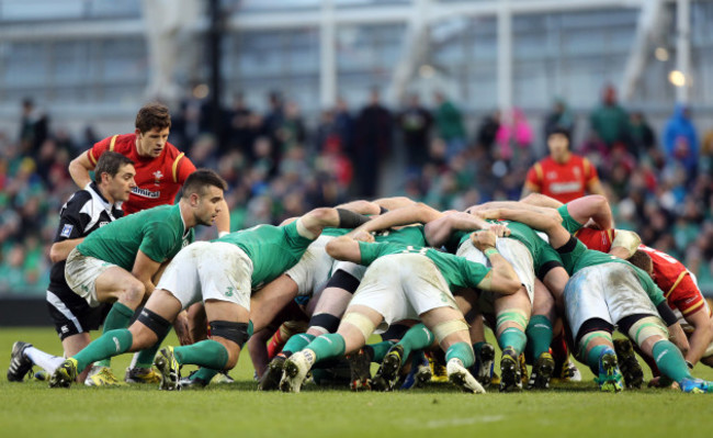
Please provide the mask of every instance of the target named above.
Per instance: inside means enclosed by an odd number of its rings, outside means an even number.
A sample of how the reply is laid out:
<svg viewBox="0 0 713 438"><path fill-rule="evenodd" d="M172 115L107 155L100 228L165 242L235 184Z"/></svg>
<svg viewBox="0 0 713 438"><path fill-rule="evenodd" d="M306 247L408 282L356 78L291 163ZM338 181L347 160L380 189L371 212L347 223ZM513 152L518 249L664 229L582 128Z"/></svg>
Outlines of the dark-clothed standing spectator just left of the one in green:
<svg viewBox="0 0 713 438"><path fill-rule="evenodd" d="M433 119L419 102L418 94L411 94L407 108L398 116L408 166L420 168L428 159L428 145Z"/></svg>

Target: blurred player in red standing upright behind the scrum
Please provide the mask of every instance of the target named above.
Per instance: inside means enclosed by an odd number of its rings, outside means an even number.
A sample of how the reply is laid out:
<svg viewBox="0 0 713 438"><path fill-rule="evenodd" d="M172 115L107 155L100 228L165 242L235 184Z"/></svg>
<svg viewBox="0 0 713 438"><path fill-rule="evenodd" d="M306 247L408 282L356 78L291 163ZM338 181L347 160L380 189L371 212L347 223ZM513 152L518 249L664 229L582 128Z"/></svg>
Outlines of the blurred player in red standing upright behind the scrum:
<svg viewBox="0 0 713 438"><path fill-rule="evenodd" d="M550 156L528 171L522 195L542 193L559 202L569 202L585 192L604 194L597 169L587 158L569 150L569 133L555 130L547 137Z"/></svg>

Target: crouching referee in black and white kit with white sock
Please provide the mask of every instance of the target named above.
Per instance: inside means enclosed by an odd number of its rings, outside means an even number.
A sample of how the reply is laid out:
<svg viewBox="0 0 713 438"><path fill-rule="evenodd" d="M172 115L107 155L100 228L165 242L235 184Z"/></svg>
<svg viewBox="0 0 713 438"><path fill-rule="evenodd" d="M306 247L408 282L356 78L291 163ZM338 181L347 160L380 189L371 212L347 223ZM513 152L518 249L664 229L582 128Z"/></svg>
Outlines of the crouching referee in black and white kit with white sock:
<svg viewBox="0 0 713 438"><path fill-rule="evenodd" d="M128 200L134 182L134 162L118 153L103 154L97 161L94 181L75 192L59 211L59 226L49 248L53 261L47 288L47 310L61 340L65 357L70 357L90 342L89 332L100 327L109 304L91 307L69 289L65 280L65 261L84 237L124 215L122 203ZM64 358L48 355L31 344L12 346L8 381L21 382L33 364L52 374ZM88 370L87 370L88 371ZM83 372L77 377L82 382Z"/></svg>

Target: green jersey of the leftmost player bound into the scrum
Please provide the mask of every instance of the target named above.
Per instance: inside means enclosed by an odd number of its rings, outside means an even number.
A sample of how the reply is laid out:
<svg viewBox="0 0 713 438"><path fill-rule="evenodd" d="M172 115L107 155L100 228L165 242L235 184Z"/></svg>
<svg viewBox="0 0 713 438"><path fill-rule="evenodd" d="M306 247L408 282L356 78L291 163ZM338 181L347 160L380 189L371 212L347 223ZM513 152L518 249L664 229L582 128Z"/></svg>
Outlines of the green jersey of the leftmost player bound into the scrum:
<svg viewBox="0 0 713 438"><path fill-rule="evenodd" d="M297 221L284 226L256 225L213 242L236 245L250 257L253 290L295 266L313 243L297 233Z"/></svg>

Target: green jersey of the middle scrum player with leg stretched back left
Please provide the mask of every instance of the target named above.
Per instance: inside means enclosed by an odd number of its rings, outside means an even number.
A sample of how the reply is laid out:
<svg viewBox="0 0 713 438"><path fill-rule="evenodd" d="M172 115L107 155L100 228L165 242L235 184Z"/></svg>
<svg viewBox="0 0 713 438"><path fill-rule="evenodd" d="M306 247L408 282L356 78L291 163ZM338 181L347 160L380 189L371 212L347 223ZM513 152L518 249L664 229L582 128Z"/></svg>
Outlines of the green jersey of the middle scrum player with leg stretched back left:
<svg viewBox="0 0 713 438"><path fill-rule="evenodd" d="M452 254L441 252L433 248L419 248L411 245L394 243L359 243L361 265L369 266L380 257L394 254L420 254L433 261L449 288L476 288L485 276L490 272L480 263L468 261Z"/></svg>

